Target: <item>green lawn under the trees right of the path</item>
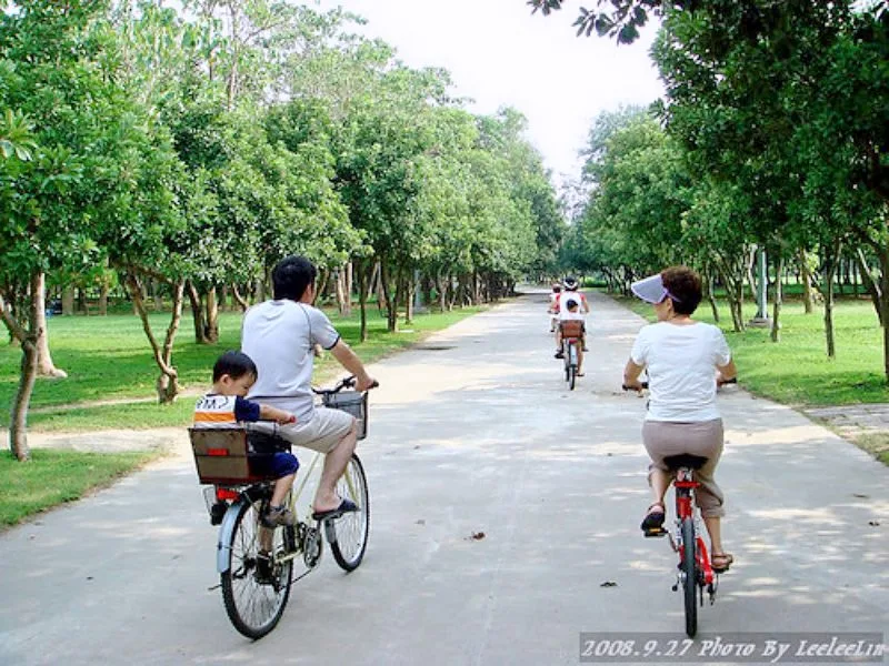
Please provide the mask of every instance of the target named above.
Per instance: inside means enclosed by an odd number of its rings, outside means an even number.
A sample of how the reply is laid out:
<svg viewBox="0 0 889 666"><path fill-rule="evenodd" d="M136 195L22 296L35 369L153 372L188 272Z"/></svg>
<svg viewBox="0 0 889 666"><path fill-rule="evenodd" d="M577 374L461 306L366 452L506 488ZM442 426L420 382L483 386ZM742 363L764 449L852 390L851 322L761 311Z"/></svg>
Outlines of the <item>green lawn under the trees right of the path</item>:
<svg viewBox="0 0 889 666"><path fill-rule="evenodd" d="M638 299L619 299L642 316L655 321L651 305ZM750 303L745 320L756 314ZM771 311L769 311L771 316ZM708 303L695 317L713 322ZM781 310L781 340L771 342L768 329L736 333L728 306L720 307L719 325L738 365L738 379L757 395L791 405L846 405L889 402L883 374L882 331L873 306L866 300L843 299L833 311L837 345L835 359L827 356L823 311L805 314L799 302Z"/></svg>

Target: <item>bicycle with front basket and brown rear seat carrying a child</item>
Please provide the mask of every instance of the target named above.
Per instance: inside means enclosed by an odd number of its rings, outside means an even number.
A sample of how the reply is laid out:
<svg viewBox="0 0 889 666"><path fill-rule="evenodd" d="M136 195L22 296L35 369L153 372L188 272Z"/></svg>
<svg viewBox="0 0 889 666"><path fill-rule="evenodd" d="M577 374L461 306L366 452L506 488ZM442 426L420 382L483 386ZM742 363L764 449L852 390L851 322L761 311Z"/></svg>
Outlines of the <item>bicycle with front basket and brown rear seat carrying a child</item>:
<svg viewBox="0 0 889 666"><path fill-rule="evenodd" d="M374 383L374 386L377 384ZM354 377L342 380L331 390L316 390L327 407L344 410L358 420L358 438L367 436L367 392L344 391ZM217 543L217 571L222 601L234 628L257 639L271 632L281 619L293 583L308 575L321 561L324 539L333 559L346 572L361 564L370 528L370 494L358 455L352 454L337 483L337 493L350 500L358 511L316 519L308 506L313 495L323 454L313 453L306 471L294 484L287 505L297 516L293 526L269 528L260 516L272 496L273 480L254 476L249 452L258 443L289 450L290 443L274 435L249 430L190 430L194 461L210 523L220 525ZM308 451L308 450L307 450ZM314 475L312 472L318 471ZM313 484L310 484L313 481ZM308 488L307 485L312 487ZM300 502L306 497L304 502ZM301 573L297 565L301 563ZM211 589L214 589L211 588Z"/></svg>

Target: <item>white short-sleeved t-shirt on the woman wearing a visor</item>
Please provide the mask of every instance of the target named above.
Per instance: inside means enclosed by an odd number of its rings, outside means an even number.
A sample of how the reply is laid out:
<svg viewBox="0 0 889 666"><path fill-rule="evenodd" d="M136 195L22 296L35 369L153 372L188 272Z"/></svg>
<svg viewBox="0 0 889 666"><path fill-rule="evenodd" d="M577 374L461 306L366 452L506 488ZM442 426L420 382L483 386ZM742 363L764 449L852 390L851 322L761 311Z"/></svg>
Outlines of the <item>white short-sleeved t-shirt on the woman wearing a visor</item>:
<svg viewBox="0 0 889 666"><path fill-rule="evenodd" d="M647 421L719 418L716 366L727 365L731 351L717 326L702 322L650 324L639 331L630 359L648 367Z"/></svg>

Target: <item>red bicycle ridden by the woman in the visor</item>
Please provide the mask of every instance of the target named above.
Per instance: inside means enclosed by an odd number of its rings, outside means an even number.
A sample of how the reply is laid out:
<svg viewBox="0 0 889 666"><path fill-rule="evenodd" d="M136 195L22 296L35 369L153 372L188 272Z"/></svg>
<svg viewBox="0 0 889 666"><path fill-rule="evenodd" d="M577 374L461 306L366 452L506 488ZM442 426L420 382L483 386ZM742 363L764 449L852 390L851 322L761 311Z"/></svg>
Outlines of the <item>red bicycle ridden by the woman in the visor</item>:
<svg viewBox="0 0 889 666"><path fill-rule="evenodd" d="M736 384L737 379L727 380L721 384ZM640 383L642 389L648 389L648 382ZM623 386L625 391L635 389ZM705 593L710 605L716 603L719 589L719 574L713 569L710 553L701 536L702 518L700 509L695 502L695 491L700 484L695 481L695 471L700 470L707 458L679 454L667 456L663 462L673 477L672 486L676 495L676 519L672 532L658 527L646 532L647 537L663 537L669 539L673 553L679 556L678 572L672 591L682 591L682 602L686 613L686 635L693 638L698 633L698 607L703 607Z"/></svg>

